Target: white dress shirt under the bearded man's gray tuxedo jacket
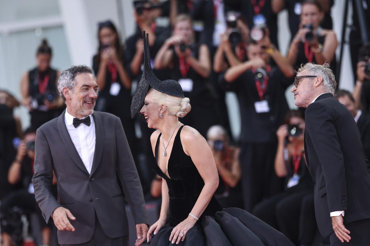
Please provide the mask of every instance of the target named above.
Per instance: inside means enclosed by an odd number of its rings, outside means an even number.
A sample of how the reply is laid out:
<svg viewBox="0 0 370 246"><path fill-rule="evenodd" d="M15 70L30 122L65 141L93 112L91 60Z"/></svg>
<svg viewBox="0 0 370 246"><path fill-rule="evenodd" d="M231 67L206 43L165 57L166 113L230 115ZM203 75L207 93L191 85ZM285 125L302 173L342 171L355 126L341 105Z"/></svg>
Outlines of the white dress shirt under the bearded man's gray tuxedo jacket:
<svg viewBox="0 0 370 246"><path fill-rule="evenodd" d="M70 115L68 113L68 109L66 109L64 122L78 155L80 155L86 170L90 174L95 151L95 124L92 115L87 117L90 117L90 126L81 123L77 128L75 128L73 126L74 117Z"/></svg>

